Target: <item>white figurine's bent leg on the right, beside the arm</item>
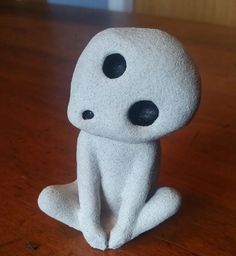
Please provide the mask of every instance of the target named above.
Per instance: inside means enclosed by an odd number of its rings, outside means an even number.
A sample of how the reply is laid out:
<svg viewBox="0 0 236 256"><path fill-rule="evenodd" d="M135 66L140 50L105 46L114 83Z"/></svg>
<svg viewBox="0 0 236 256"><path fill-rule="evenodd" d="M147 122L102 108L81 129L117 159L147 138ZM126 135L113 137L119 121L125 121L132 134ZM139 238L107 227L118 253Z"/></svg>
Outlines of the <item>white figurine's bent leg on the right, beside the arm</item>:
<svg viewBox="0 0 236 256"><path fill-rule="evenodd" d="M180 206L180 196L173 188L163 187L146 202L141 210L132 239L159 225L174 215Z"/></svg>

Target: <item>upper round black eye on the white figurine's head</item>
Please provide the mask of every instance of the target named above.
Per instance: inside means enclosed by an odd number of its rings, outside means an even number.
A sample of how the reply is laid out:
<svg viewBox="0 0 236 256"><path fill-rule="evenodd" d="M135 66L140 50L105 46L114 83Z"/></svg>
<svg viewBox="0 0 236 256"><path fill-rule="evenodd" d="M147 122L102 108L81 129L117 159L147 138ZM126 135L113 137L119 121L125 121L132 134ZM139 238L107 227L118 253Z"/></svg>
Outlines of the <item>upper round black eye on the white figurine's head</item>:
<svg viewBox="0 0 236 256"><path fill-rule="evenodd" d="M126 70L125 58L119 53L108 55L104 60L102 70L110 79L122 76Z"/></svg>

